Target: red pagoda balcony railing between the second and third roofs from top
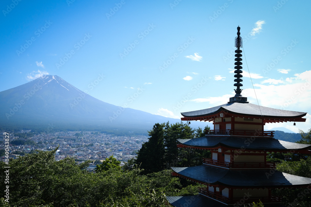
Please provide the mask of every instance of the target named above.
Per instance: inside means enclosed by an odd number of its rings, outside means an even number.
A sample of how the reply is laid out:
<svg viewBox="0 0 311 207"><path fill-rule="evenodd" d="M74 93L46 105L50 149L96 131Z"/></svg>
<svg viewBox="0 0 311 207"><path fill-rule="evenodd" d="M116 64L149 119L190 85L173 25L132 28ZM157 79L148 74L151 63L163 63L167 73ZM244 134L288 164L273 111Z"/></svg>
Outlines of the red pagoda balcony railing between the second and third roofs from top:
<svg viewBox="0 0 311 207"><path fill-rule="evenodd" d="M253 168L262 168L262 169L275 169L275 163L273 162L241 162L241 163L232 163L224 162L220 160L212 160L211 158L203 158L203 164L215 165L223 168L237 168L237 169L253 169Z"/></svg>

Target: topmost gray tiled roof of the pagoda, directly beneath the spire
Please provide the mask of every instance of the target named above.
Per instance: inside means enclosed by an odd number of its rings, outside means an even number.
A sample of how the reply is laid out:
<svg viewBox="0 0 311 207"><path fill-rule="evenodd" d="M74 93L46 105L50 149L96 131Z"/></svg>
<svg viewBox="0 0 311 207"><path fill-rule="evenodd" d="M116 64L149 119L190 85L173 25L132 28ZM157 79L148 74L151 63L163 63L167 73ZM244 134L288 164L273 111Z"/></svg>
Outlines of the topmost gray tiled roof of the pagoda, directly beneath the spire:
<svg viewBox="0 0 311 207"><path fill-rule="evenodd" d="M220 106L211 107L197 111L183 112L184 117L200 117L205 115L215 114L220 110L228 110L234 114L251 115L251 116L265 116L265 117L301 117L305 116L306 112L287 111L281 109L273 109L265 106L258 106L251 103L227 103Z"/></svg>

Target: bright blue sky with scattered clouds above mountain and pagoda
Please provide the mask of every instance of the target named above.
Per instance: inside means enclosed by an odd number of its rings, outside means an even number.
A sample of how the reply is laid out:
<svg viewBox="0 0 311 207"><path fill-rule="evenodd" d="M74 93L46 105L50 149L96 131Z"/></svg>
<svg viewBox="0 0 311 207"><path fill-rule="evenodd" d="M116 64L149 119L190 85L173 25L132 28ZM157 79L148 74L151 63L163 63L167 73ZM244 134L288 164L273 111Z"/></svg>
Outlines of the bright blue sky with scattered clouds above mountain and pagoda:
<svg viewBox="0 0 311 207"><path fill-rule="evenodd" d="M234 95L239 25L242 95L257 104L249 69L261 106L311 114L310 4L1 1L0 91L58 75L101 101L179 118L180 112L224 104ZM266 129L307 131L309 114L306 123Z"/></svg>

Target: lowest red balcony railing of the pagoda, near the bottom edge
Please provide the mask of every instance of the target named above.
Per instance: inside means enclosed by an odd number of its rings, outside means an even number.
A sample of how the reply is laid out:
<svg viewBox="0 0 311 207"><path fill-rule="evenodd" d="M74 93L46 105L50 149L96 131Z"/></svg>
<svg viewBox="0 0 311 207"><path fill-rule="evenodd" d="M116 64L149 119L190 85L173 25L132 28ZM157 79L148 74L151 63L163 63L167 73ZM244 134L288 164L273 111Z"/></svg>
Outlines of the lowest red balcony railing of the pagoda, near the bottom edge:
<svg viewBox="0 0 311 207"><path fill-rule="evenodd" d="M199 188L199 194L206 196L208 198L220 201L225 204L235 204L239 203L241 198L227 198L225 196L222 196L218 193L213 193L209 191L207 188ZM243 199L243 198L242 198ZM280 196L271 196L271 197L250 197L247 200L244 200L245 204L258 202L258 200L261 200L262 203L281 203L281 197Z"/></svg>

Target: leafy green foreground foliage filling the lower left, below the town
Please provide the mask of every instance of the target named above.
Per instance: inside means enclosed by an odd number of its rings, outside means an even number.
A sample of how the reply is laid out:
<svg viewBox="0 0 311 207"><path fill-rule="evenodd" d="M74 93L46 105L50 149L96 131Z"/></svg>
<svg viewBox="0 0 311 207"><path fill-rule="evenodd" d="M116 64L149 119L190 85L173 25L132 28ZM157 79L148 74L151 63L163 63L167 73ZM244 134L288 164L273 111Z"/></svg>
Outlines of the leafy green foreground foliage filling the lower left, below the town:
<svg viewBox="0 0 311 207"><path fill-rule="evenodd" d="M170 170L141 175L137 165L122 171L110 167L99 173L87 172L90 161L77 164L74 158L55 161L55 152L36 151L10 163L10 203L7 206L89 207L89 206L169 206L166 195L197 194L199 185L172 177ZM113 157L106 159L117 165ZM105 161L106 161L105 160ZM129 164L132 161L129 161ZM105 164L101 164L105 166ZM6 164L0 162L0 179ZM0 186L4 196L4 186ZM165 193L165 194L164 194ZM2 203L1 203L2 202ZM0 200L0 204L5 206Z"/></svg>

